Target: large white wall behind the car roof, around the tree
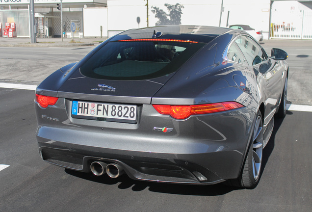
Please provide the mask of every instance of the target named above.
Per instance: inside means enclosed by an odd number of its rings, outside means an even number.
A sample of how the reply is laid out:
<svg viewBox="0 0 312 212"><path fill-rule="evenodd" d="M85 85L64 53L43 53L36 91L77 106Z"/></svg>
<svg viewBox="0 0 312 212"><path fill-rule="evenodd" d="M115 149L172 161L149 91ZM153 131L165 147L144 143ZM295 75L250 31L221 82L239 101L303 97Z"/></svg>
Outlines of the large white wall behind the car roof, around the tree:
<svg viewBox="0 0 312 212"><path fill-rule="evenodd" d="M152 7L168 13L165 3L180 3L182 8L182 25L219 26L222 0L149 0L149 26L155 26L158 19L152 13ZM111 35L130 28L146 27L146 1L144 0L107 0L108 31ZM250 25L262 30L268 38L270 0L223 0L221 27L227 27L228 11L229 25ZM140 17L140 25L136 19ZM109 34L108 33L108 34ZM110 35L109 35L110 36Z"/></svg>

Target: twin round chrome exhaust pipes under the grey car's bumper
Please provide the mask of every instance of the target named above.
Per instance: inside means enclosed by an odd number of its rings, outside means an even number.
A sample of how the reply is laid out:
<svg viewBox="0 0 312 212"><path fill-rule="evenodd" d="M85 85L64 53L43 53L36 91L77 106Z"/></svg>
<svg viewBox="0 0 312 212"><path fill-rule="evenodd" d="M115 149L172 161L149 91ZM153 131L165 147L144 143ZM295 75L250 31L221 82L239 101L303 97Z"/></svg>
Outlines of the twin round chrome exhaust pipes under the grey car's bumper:
<svg viewBox="0 0 312 212"><path fill-rule="evenodd" d="M105 173L111 178L117 178L122 175L125 171L117 163L105 163L102 161L94 161L90 165L91 171L96 176L101 176Z"/></svg>

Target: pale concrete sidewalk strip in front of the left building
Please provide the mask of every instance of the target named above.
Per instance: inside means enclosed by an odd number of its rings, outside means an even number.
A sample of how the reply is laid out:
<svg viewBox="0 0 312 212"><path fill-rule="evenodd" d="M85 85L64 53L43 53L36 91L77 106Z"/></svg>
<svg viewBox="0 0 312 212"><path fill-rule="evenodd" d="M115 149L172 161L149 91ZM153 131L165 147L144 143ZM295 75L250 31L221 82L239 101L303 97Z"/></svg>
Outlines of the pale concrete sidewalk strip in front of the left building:
<svg viewBox="0 0 312 212"><path fill-rule="evenodd" d="M37 38L37 43L31 43L30 38L0 37L0 47L67 47L67 46L92 46L102 43L107 38Z"/></svg>

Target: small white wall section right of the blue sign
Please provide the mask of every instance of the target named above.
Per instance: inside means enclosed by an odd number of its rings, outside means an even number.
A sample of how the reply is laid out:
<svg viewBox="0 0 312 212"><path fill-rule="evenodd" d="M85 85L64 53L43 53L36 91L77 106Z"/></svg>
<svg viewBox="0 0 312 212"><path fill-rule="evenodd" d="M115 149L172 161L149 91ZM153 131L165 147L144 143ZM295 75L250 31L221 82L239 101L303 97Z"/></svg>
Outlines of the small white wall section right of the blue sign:
<svg viewBox="0 0 312 212"><path fill-rule="evenodd" d="M84 8L83 9L83 36L100 37L102 26L102 36L107 37L107 8Z"/></svg>

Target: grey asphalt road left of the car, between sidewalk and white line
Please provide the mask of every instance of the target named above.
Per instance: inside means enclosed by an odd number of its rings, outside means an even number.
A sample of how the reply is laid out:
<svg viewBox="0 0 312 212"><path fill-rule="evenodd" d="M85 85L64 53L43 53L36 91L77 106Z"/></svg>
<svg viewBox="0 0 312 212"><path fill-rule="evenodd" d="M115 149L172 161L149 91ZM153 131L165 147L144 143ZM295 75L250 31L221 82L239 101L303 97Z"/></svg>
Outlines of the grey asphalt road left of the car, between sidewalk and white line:
<svg viewBox="0 0 312 212"><path fill-rule="evenodd" d="M0 47L0 80L38 84L57 69L78 62L95 46Z"/></svg>

